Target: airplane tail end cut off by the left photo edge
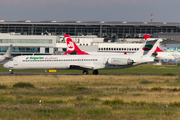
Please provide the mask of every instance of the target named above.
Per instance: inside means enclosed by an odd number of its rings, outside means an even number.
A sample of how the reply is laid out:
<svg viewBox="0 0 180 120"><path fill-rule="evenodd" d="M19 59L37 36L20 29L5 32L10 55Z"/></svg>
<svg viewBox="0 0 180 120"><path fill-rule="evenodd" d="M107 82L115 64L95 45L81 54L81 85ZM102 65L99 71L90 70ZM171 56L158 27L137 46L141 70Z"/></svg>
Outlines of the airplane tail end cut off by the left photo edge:
<svg viewBox="0 0 180 120"><path fill-rule="evenodd" d="M0 62L5 62L11 59L12 58L11 51L12 51L12 45L10 45L10 47L8 48L8 50L6 51L4 55L0 55Z"/></svg>

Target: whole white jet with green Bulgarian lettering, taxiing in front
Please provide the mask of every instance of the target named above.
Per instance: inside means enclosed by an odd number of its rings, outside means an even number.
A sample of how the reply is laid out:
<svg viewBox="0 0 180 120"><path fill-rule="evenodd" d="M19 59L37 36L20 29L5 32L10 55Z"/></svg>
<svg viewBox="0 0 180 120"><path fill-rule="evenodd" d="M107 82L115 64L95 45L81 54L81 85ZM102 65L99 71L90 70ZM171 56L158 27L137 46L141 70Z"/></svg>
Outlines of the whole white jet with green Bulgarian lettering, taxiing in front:
<svg viewBox="0 0 180 120"><path fill-rule="evenodd" d="M31 55L17 56L6 62L3 67L13 70L47 70L47 69L77 69L83 70L83 74L88 74L88 70L93 70L93 74L99 74L100 69L123 69L147 62L153 62L155 51L162 39L149 38L144 45L131 55L113 54L92 54L92 55Z"/></svg>

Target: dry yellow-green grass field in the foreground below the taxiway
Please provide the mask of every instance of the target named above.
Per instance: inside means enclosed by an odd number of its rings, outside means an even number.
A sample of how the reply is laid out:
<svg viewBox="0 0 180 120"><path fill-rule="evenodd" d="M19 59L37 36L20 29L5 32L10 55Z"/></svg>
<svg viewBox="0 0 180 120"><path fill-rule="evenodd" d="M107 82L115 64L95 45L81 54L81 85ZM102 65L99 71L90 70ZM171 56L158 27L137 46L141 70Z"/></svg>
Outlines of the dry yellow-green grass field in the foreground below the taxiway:
<svg viewBox="0 0 180 120"><path fill-rule="evenodd" d="M0 89L0 120L176 120L179 81L164 75L0 76L6 86ZM21 82L35 87L13 87Z"/></svg>

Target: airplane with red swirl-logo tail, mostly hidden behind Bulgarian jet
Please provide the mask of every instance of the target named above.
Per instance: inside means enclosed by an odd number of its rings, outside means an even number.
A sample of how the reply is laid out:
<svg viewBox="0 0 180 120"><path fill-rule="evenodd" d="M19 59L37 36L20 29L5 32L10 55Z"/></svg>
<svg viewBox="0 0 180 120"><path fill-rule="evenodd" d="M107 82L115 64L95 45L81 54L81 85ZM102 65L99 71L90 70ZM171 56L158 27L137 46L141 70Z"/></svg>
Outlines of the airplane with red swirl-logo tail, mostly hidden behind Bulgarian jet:
<svg viewBox="0 0 180 120"><path fill-rule="evenodd" d="M126 52L124 53L115 53L115 52L84 52L82 51L77 45L76 43L71 39L71 37L67 34L64 35L64 38L66 40L67 43L67 48L68 50L64 53L65 55L89 55L89 54L127 54ZM128 53L130 54L130 53Z"/></svg>

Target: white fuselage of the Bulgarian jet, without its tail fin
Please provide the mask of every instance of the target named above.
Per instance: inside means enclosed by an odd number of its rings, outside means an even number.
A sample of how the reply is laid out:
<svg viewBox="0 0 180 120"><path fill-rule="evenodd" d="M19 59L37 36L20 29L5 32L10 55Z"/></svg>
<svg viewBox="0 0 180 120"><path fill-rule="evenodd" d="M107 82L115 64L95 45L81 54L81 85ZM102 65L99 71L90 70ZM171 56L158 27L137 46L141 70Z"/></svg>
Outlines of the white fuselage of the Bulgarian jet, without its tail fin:
<svg viewBox="0 0 180 120"><path fill-rule="evenodd" d="M128 63L128 60L130 62ZM133 58L132 58L133 60ZM131 62L129 55L41 55L17 56L4 64L9 70L35 69L121 69L141 62ZM136 60L135 60L136 61ZM148 61L149 62L149 61ZM144 63L144 61L143 61Z"/></svg>

